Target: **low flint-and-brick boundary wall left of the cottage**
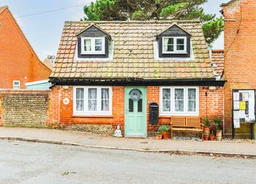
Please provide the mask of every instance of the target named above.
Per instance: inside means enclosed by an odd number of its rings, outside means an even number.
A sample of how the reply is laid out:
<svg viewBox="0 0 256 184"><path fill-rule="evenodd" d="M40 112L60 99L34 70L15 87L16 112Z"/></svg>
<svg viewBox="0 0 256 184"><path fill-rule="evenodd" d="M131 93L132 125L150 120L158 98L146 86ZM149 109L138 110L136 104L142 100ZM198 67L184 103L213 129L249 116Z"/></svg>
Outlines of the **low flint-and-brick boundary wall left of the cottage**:
<svg viewBox="0 0 256 184"><path fill-rule="evenodd" d="M0 124L3 126L46 126L48 90L0 90Z"/></svg>

